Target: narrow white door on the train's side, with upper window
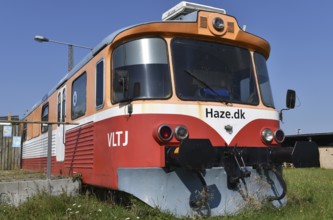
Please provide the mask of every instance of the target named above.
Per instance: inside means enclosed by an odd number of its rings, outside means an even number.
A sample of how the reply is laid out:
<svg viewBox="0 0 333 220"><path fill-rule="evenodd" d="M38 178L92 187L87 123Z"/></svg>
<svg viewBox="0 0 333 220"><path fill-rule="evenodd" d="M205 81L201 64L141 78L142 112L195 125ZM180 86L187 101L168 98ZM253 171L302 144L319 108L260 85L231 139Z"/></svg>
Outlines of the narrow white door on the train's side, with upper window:
<svg viewBox="0 0 333 220"><path fill-rule="evenodd" d="M66 86L58 92L58 122L65 122L66 118ZM65 159L65 125L58 124L56 129L56 161L62 162Z"/></svg>

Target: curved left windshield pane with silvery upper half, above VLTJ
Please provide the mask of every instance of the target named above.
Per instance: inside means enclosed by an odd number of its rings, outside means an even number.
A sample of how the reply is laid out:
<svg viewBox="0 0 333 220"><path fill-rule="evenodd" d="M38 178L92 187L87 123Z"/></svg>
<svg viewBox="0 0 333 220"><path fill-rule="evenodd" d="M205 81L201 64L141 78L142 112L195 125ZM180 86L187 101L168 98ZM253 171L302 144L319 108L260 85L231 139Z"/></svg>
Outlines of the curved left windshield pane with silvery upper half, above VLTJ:
<svg viewBox="0 0 333 220"><path fill-rule="evenodd" d="M113 102L171 97L166 43L161 38L137 39L113 52Z"/></svg>

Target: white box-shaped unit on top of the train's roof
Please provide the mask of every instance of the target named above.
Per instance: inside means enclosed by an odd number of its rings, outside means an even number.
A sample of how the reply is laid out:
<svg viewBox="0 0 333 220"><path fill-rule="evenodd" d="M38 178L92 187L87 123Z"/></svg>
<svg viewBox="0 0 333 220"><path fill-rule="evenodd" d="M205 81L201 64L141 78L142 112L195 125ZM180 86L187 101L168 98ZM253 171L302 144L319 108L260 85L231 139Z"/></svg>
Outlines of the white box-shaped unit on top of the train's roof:
<svg viewBox="0 0 333 220"><path fill-rule="evenodd" d="M220 14L226 14L226 10L222 8L214 8L211 6L207 5L200 5L196 3L191 3L191 2L186 2L182 1L179 4L175 5L168 11L164 12L162 15L162 20L167 21L167 20L177 20L178 17L181 15L187 15L190 14L194 11L210 11L210 12L216 12Z"/></svg>

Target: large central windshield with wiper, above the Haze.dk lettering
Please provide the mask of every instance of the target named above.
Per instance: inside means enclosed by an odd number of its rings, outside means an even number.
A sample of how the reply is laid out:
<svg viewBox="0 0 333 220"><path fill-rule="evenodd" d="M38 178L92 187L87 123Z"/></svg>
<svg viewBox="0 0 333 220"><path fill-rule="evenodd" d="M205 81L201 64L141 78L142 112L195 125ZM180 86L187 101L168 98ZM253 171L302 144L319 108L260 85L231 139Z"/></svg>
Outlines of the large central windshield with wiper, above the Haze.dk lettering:
<svg viewBox="0 0 333 220"><path fill-rule="evenodd" d="M171 48L180 99L259 104L249 50L192 39L173 39Z"/></svg>

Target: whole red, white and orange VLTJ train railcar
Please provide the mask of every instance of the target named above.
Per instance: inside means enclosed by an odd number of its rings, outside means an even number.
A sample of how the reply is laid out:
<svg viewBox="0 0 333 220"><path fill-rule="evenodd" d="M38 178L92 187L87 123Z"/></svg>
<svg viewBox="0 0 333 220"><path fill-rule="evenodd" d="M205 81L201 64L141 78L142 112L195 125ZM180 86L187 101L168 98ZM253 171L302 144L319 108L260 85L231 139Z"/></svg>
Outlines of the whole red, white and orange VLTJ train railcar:
<svg viewBox="0 0 333 220"><path fill-rule="evenodd" d="M252 199L283 205L291 151L268 42L223 9L181 2L164 17L108 36L27 114L76 123L52 126L52 173L177 216L234 213ZM47 127L23 131L22 168L44 170Z"/></svg>

